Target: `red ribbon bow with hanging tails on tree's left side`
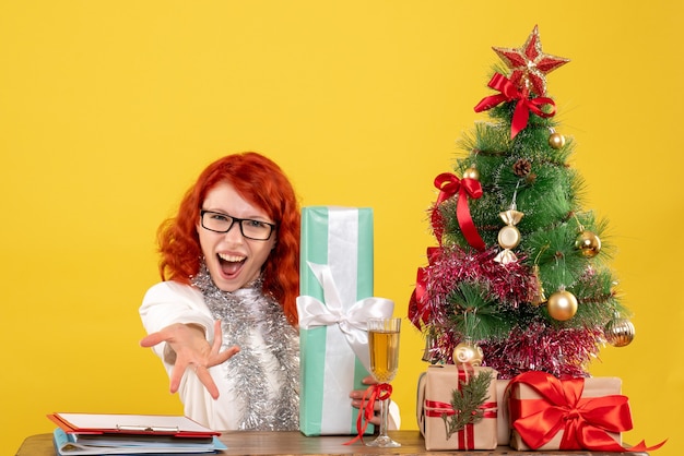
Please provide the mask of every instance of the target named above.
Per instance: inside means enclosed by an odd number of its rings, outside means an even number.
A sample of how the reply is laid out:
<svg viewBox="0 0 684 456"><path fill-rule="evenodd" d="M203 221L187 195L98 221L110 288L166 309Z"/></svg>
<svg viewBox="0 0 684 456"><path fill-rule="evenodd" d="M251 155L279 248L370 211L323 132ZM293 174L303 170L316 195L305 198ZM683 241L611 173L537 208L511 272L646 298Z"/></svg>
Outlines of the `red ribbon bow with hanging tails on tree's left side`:
<svg viewBox="0 0 684 456"><path fill-rule="evenodd" d="M470 216L470 207L468 207L469 196L474 200L482 196L482 185L480 184L480 181L471 178L459 179L450 172L443 172L435 178L435 187L439 190L439 195L437 196L437 202L435 203L435 208L433 209L432 221L435 229L435 237L439 241L439 244L441 245L441 235L444 230L440 219L438 218L440 216L439 204L458 193L459 199L456 204L456 217L458 219L459 227L461 228L468 243L471 247L483 251L485 249L484 241L480 237L477 228L475 228L475 224L473 224L473 219Z"/></svg>

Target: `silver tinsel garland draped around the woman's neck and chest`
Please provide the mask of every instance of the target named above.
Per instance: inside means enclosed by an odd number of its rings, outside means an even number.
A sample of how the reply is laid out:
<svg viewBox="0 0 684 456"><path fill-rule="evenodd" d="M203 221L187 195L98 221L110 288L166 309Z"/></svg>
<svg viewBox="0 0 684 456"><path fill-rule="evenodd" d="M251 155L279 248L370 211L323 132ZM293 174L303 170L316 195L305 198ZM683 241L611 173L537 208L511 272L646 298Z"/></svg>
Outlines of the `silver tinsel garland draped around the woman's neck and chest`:
<svg viewBox="0 0 684 456"><path fill-rule="evenodd" d="M244 400L239 430L294 431L299 429L299 336L287 323L281 305L262 292L262 280L245 288L222 291L207 267L193 277L192 285L204 296L214 319L222 322L223 349L237 345L240 351L223 364L235 396ZM266 346L255 347L252 332L259 332ZM272 353L280 391L269 388L269 372L260 352Z"/></svg>

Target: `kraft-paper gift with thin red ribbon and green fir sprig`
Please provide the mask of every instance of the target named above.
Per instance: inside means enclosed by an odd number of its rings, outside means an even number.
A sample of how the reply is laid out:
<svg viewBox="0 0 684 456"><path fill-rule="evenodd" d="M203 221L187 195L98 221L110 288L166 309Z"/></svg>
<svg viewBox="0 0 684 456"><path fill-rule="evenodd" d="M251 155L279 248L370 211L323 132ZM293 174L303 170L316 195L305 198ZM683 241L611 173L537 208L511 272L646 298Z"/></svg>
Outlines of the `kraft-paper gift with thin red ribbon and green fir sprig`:
<svg viewBox="0 0 684 456"><path fill-rule="evenodd" d="M425 449L496 448L496 375L491 368L467 364L427 368L416 407Z"/></svg>

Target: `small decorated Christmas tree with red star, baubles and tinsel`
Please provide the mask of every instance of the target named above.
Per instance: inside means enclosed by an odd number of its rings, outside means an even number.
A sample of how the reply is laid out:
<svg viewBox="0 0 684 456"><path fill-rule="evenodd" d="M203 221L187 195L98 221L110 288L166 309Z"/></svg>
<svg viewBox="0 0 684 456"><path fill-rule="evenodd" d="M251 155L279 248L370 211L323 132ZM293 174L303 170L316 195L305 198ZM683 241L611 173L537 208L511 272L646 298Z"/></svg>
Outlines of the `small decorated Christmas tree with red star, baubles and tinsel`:
<svg viewBox="0 0 684 456"><path fill-rule="evenodd" d="M435 179L438 245L409 317L433 363L588 376L600 347L629 344L634 326L606 264L606 223L582 209L582 179L567 164L575 144L546 96L547 73L568 60L542 52L536 26L522 47L493 49L506 69L475 106L490 121L460 141L456 173Z"/></svg>

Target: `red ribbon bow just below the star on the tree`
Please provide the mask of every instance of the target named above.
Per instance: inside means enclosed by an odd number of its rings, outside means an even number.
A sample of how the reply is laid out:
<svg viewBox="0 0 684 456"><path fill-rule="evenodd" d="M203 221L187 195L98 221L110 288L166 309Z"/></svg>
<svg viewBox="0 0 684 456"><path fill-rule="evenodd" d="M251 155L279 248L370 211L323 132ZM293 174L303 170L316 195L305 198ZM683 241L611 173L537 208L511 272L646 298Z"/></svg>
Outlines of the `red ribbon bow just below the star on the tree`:
<svg viewBox="0 0 684 456"><path fill-rule="evenodd" d="M516 110L514 111L512 121L510 123L510 139L516 135L528 125L528 119L530 118L530 111L534 112L539 117L549 118L556 113L556 104L553 99L547 97L529 98L530 91L522 88L518 91L516 85L510 82L506 76L499 73L495 73L490 80L487 86L498 91L498 95L491 95L482 98L477 106L475 106L475 112L486 111L504 101L518 100ZM552 107L551 112L542 111L541 107L549 105Z"/></svg>

